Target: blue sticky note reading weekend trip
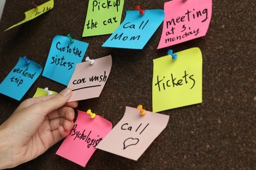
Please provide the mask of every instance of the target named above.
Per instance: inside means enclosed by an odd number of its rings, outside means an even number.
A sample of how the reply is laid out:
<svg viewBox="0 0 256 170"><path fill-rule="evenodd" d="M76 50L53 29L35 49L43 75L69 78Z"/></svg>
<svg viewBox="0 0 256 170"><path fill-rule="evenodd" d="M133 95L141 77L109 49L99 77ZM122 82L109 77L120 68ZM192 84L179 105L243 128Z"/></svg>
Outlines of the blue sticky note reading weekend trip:
<svg viewBox="0 0 256 170"><path fill-rule="evenodd" d="M0 84L0 93L20 101L30 89L33 82L41 75L43 68L41 65L30 60L26 63L24 58L20 58L18 63Z"/></svg>

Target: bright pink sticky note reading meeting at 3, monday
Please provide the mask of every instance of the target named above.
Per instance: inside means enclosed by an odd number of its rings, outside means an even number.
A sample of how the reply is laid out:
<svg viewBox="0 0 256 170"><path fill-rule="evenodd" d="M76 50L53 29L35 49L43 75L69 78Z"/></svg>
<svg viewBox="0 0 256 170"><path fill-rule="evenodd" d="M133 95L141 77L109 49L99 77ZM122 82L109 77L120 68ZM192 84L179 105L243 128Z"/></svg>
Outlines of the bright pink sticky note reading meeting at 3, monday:
<svg viewBox="0 0 256 170"><path fill-rule="evenodd" d="M169 1L159 48L205 36L211 21L212 0Z"/></svg>

